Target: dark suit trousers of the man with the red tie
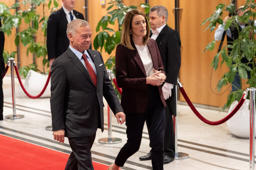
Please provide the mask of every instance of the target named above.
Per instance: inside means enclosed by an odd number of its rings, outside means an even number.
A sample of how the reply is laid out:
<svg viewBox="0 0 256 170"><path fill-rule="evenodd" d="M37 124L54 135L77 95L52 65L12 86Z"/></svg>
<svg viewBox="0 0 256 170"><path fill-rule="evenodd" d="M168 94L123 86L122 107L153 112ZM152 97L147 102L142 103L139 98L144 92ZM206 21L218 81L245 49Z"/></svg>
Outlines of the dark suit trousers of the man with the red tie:
<svg viewBox="0 0 256 170"><path fill-rule="evenodd" d="M91 148L96 133L84 137L68 137L72 152L68 158L65 170L94 170Z"/></svg>

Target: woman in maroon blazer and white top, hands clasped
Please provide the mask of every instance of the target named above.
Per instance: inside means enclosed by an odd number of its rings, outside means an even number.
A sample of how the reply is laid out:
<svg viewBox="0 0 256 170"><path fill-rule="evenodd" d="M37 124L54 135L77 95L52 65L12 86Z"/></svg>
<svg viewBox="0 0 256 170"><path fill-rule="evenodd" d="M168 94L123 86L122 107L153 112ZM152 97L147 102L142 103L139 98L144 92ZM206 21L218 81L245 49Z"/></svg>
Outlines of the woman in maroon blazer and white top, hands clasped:
<svg viewBox="0 0 256 170"><path fill-rule="evenodd" d="M166 76L157 43L149 39L145 14L134 9L124 19L121 44L116 47L116 79L122 88L127 143L108 170L118 170L139 150L145 121L149 126L153 170L163 170L164 107L161 84Z"/></svg>

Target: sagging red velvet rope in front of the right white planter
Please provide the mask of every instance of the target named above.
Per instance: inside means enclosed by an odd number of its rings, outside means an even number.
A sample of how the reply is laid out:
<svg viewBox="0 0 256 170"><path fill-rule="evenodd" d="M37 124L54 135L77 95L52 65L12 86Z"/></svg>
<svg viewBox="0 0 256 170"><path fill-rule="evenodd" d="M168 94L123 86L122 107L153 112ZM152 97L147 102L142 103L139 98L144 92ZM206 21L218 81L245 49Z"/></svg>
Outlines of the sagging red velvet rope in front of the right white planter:
<svg viewBox="0 0 256 170"><path fill-rule="evenodd" d="M233 109L232 112L230 112L230 114L228 114L225 118L216 121L216 122L212 122L212 121L208 121L207 119L205 119L194 107L194 105L192 104L192 102L189 100L185 90L183 89L183 87L180 87L180 92L183 95L183 97L185 98L186 102L188 103L189 107L192 109L192 111L195 113L195 115L204 123L208 124L208 125L220 125L223 124L224 122L226 122L227 120L229 120L232 116L235 115L235 113L240 109L240 107L244 104L245 99L243 99L243 97L241 97L240 101L238 102L237 106Z"/></svg>

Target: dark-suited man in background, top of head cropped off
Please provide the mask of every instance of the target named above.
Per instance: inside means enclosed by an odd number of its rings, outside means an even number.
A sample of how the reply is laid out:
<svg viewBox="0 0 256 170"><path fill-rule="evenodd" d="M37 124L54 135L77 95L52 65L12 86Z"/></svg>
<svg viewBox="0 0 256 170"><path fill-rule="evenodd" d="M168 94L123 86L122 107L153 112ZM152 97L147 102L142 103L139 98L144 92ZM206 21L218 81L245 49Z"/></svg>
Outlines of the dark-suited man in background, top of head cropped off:
<svg viewBox="0 0 256 170"><path fill-rule="evenodd" d="M47 21L46 45L50 68L53 60L63 54L69 45L66 35L67 24L74 19L84 20L82 13L73 10L75 0L62 0L62 2L62 8L53 12Z"/></svg>

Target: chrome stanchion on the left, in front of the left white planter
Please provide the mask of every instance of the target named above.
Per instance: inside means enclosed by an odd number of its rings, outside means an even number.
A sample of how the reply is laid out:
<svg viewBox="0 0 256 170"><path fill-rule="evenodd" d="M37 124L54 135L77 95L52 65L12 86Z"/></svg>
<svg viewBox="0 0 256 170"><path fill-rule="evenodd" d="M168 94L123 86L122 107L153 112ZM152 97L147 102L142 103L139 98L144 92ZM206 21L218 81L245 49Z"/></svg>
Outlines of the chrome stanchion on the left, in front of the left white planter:
<svg viewBox="0 0 256 170"><path fill-rule="evenodd" d="M13 110L13 115L7 115L4 118L5 119L21 119L24 118L24 115L16 115L16 105L15 105L15 89L14 89L14 65L15 58L9 58L9 62L11 65L11 79L12 79L12 110Z"/></svg>

